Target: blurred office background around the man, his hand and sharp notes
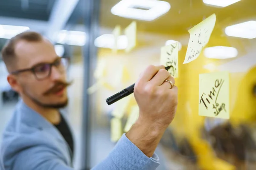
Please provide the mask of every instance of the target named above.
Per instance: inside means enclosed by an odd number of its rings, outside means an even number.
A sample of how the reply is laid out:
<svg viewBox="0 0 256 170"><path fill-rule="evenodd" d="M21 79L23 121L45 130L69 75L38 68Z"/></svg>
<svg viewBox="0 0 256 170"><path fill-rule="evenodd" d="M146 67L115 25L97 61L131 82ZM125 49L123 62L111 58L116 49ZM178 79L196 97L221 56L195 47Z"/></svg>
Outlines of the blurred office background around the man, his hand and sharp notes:
<svg viewBox="0 0 256 170"><path fill-rule="evenodd" d="M177 41L179 105L157 148L157 170L255 170L255 9L255 0L0 0L0 50L32 30L48 37L59 56L70 57L74 164L89 170L138 114L133 95L113 105L105 99L136 82L148 65L159 65L160 48ZM209 43L183 65L188 30L213 13ZM199 74L215 71L230 72L230 119L198 116ZM19 99L7 74L0 60L0 135Z"/></svg>

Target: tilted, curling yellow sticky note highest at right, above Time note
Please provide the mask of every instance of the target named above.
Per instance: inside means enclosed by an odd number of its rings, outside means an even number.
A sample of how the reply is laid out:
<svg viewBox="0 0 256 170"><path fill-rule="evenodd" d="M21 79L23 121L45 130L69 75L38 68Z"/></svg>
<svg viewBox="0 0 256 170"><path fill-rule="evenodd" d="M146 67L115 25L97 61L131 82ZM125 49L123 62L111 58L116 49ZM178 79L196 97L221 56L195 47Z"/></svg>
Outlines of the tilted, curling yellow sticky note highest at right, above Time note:
<svg viewBox="0 0 256 170"><path fill-rule="evenodd" d="M216 15L212 14L189 30L190 39L183 64L192 62L198 58L204 46L209 42L215 22Z"/></svg>

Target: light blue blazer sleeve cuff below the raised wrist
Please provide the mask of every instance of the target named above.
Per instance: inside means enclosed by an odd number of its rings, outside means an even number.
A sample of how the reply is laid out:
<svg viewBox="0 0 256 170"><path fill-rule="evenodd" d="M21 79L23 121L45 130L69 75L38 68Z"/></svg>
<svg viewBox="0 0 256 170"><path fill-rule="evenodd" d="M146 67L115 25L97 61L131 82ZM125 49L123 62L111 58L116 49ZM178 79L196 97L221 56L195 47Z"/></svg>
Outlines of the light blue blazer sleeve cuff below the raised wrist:
<svg viewBox="0 0 256 170"><path fill-rule="evenodd" d="M156 154L148 158L123 134L110 155L92 170L156 170L159 165Z"/></svg>

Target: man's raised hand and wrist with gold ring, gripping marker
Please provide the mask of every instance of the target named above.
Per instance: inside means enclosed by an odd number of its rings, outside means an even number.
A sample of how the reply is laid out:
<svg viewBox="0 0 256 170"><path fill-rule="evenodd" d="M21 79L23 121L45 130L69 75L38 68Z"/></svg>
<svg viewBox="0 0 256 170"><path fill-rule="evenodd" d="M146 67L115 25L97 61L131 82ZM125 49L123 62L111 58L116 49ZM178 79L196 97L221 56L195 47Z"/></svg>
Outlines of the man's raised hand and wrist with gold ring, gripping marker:
<svg viewBox="0 0 256 170"><path fill-rule="evenodd" d="M140 108L140 116L126 134L146 156L151 157L164 131L175 117L177 87L164 66L149 66L134 86L134 96Z"/></svg>

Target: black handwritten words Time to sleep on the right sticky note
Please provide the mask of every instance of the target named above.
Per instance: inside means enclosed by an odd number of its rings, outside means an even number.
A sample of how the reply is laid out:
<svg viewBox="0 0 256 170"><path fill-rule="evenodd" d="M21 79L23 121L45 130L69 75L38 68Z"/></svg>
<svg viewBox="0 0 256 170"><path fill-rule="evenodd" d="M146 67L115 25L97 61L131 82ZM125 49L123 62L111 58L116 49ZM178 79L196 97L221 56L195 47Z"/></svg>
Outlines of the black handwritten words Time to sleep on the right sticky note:
<svg viewBox="0 0 256 170"><path fill-rule="evenodd" d="M215 84L212 87L212 90L207 95L206 93L203 93L200 99L200 105L204 105L204 107L208 110L209 105L212 105L212 108L215 109L214 114L217 116L221 111L226 111L225 109L225 103L219 104L217 102L218 95L221 90L221 86L223 85L224 80L222 79L216 79ZM214 100L215 99L215 100Z"/></svg>

